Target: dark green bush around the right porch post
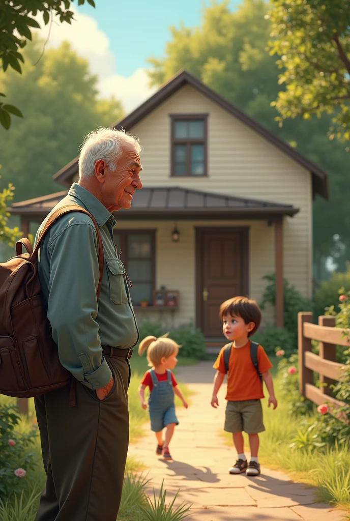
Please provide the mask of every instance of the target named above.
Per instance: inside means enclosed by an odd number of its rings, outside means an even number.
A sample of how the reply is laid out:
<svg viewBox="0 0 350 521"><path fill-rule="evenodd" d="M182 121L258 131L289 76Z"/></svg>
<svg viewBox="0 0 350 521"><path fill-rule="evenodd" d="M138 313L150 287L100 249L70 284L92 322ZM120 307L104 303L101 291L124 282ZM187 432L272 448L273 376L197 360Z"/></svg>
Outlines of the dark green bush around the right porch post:
<svg viewBox="0 0 350 521"><path fill-rule="evenodd" d="M265 288L262 300L260 303L261 309L265 309L266 304L276 305L276 277L274 274L265 275L262 277L268 281ZM292 284L286 279L283 280L284 288L284 313L283 321L284 328L290 333L293 345L297 346L297 315L299 311L313 311L313 303L302 296ZM282 347L282 346L281 346ZM284 349L284 348L283 348Z"/></svg>

